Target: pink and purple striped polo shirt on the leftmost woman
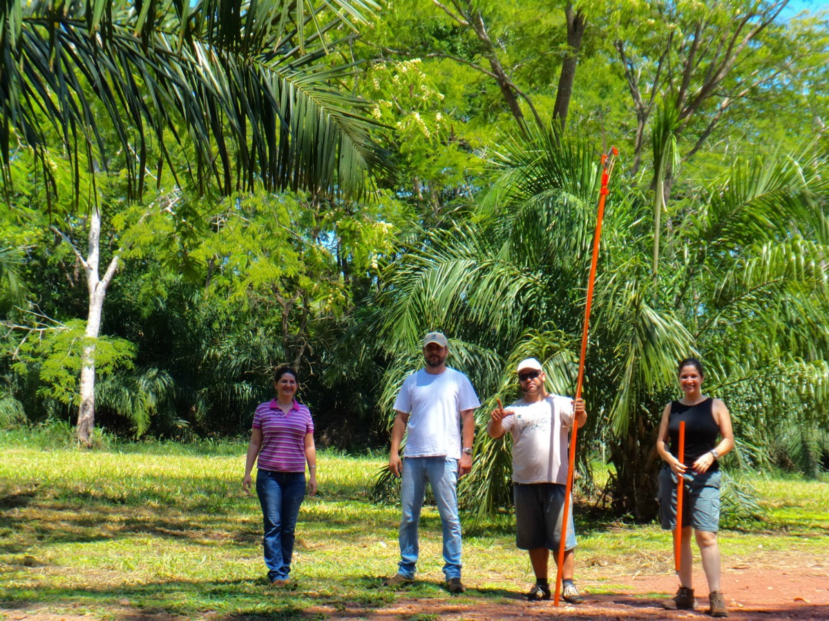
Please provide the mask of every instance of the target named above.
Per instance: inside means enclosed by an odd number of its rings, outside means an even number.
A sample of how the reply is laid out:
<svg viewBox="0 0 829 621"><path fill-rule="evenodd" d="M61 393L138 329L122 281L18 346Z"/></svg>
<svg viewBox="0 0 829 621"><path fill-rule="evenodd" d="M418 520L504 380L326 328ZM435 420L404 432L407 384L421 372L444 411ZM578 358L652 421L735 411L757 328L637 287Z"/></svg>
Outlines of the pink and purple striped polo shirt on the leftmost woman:
<svg viewBox="0 0 829 621"><path fill-rule="evenodd" d="M308 407L296 399L285 414L276 400L260 403L254 414L254 429L262 430L262 446L256 465L277 472L305 472L305 435L313 433Z"/></svg>

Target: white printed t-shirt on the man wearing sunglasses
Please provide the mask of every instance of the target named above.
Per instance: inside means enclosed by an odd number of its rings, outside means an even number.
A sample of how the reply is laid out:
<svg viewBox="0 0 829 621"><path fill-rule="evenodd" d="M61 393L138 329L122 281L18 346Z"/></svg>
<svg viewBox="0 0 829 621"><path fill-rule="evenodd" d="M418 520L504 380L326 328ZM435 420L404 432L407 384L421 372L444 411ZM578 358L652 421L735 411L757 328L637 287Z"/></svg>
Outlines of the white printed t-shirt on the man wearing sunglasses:
<svg viewBox="0 0 829 621"><path fill-rule="evenodd" d="M547 395L535 403L520 399L506 409L515 412L502 421L512 434L512 480L567 484L570 397Z"/></svg>

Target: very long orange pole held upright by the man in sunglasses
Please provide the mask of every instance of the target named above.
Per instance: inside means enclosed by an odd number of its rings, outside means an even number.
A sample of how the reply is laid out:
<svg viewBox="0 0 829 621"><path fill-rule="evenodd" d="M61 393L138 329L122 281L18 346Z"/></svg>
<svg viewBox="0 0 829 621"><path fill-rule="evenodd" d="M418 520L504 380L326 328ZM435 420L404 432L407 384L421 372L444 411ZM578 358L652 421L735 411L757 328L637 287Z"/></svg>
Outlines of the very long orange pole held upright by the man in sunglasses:
<svg viewBox="0 0 829 621"><path fill-rule="evenodd" d="M604 200L608 196L608 181L613 172L613 164L618 156L616 147L610 148L610 154L602 154L602 187L599 190L599 211L596 214L596 232L593 237L593 259L590 262L590 276L587 281L587 303L584 305L584 328L581 333L581 355L579 356L579 378L575 384L575 398L581 398L581 384L584 381L584 355L587 354L587 335L590 325L590 307L593 306L593 285L596 280L596 264L599 262L599 238L602 235L602 219L604 218ZM565 545L567 541L567 518L570 516L570 494L573 492L573 473L575 471L575 439L579 432L579 425L573 420L573 431L570 432L570 465L567 469L567 487L565 489L565 506L561 512L561 537L559 542L559 558L556 565L554 605L559 605L561 593L561 570L565 564Z"/></svg>

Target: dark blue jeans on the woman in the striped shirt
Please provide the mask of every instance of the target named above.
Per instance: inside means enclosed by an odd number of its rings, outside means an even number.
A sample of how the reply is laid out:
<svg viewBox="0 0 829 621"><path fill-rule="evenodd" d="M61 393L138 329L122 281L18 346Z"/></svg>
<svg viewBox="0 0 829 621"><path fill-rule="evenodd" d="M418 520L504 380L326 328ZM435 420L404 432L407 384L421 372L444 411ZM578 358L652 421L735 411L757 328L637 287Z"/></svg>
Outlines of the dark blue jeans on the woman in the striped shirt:
<svg viewBox="0 0 829 621"><path fill-rule="evenodd" d="M264 517L264 564L268 567L268 580L288 580L299 506L305 498L305 473L259 469L256 495Z"/></svg>

